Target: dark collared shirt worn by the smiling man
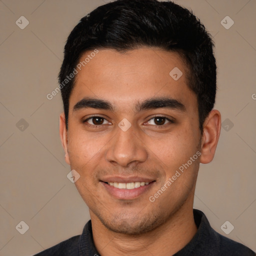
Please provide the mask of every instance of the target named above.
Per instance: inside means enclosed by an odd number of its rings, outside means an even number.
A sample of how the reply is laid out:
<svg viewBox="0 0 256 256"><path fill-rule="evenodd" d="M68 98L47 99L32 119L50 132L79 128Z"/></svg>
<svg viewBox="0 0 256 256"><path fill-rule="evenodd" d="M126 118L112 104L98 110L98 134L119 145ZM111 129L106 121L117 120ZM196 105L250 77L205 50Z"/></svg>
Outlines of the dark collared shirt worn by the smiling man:
<svg viewBox="0 0 256 256"><path fill-rule="evenodd" d="M193 209L197 231L185 247L173 256L255 256L256 254L241 243L217 233L209 224L204 213ZM91 229L91 220L83 227L81 235L73 236L34 256L100 256L97 252Z"/></svg>

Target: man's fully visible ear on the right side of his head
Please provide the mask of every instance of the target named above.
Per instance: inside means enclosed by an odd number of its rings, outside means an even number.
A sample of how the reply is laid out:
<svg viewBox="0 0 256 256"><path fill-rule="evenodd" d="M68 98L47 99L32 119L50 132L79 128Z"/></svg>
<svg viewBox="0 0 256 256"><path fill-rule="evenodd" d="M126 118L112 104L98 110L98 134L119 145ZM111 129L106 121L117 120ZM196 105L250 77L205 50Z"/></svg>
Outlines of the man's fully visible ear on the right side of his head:
<svg viewBox="0 0 256 256"><path fill-rule="evenodd" d="M201 163L209 163L217 147L221 129L221 115L216 109L209 112L203 123L203 134L201 141Z"/></svg>

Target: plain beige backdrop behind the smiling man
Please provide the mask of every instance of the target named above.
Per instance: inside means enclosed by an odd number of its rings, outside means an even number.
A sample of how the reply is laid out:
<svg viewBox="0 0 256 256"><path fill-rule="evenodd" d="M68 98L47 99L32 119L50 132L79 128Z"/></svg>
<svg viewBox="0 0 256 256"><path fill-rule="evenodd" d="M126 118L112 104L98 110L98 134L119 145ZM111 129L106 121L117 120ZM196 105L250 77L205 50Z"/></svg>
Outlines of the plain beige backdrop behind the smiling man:
<svg viewBox="0 0 256 256"><path fill-rule="evenodd" d="M192 9L214 36L215 108L222 121L228 118L214 160L200 165L194 207L215 230L256 251L256 1L175 2ZM66 177L70 169L58 135L60 93L51 100L46 94L57 86L69 32L101 4L103 0L0 0L0 255L32 255L80 234L89 219L87 206ZM21 15L29 21L24 29L15 24ZM226 15L234 21L229 29L220 23ZM15 228L21 220L29 226L24 234ZM226 220L234 226L229 234L220 229Z"/></svg>

